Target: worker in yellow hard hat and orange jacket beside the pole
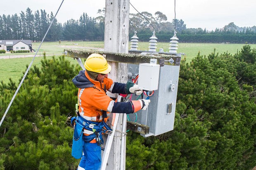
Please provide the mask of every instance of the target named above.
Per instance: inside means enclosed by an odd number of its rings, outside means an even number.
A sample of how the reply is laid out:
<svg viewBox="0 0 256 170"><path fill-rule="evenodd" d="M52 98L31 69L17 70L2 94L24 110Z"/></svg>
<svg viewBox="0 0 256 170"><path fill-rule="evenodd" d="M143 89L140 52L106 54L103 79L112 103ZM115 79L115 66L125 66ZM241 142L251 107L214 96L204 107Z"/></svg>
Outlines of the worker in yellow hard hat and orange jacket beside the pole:
<svg viewBox="0 0 256 170"><path fill-rule="evenodd" d="M142 89L137 84L113 82L108 78L111 66L104 56L91 54L85 61L85 70L73 78L78 89L77 117L75 122L72 156L81 158L78 170L98 170L101 166L102 134L111 132L105 123L107 112L135 113L147 109L150 100L140 99L130 102L115 102L106 92L140 95ZM105 119L106 118L106 119ZM83 135L81 135L83 132ZM80 142L79 142L80 141ZM83 151L83 153L82 153Z"/></svg>

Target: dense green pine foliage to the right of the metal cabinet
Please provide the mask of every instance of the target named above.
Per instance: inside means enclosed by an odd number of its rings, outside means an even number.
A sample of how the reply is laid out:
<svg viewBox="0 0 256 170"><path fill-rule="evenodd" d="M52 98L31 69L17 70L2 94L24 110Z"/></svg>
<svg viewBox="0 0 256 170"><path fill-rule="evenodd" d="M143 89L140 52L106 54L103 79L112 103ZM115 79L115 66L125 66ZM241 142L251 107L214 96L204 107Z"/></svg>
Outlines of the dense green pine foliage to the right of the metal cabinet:
<svg viewBox="0 0 256 170"><path fill-rule="evenodd" d="M227 53L216 54L214 50L208 56L198 54L191 63L183 60L180 66L174 130L149 138L132 133L132 138L128 138L127 142L126 168L254 168L255 55L256 50L246 45L234 56ZM130 147L137 140L142 143ZM136 160L139 163L135 163ZM147 163L141 165L145 161Z"/></svg>

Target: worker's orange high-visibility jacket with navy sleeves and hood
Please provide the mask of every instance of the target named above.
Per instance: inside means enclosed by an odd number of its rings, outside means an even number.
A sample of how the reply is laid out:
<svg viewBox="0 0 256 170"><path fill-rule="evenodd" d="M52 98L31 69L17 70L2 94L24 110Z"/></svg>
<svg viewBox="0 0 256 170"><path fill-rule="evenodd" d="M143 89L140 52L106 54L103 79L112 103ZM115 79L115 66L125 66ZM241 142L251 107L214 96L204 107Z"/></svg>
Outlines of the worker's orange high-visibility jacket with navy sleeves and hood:
<svg viewBox="0 0 256 170"><path fill-rule="evenodd" d="M104 78L104 82L93 80L85 70L80 71L72 81L79 88L79 114L88 121L101 122L103 111L127 114L137 111L134 104L139 101L115 102L104 91L105 87L111 93L129 94L129 91L126 92L126 84L113 82L107 77ZM90 130L84 130L84 135L92 133ZM91 142L94 143L96 140Z"/></svg>

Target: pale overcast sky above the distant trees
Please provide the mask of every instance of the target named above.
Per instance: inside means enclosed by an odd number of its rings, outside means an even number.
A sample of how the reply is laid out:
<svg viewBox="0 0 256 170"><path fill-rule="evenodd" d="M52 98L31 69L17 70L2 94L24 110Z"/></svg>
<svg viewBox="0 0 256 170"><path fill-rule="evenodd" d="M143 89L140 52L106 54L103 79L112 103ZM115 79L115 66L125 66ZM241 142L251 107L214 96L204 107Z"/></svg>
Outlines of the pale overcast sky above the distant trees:
<svg viewBox="0 0 256 170"><path fill-rule="evenodd" d="M1 0L2 1L2 0ZM113 0L114 2L115 0ZM10 0L0 5L0 15L26 12L29 7L33 13L45 9L47 14L55 14L62 0ZM162 12L168 21L174 19L174 0L130 0L139 11L154 14ZM79 19L83 12L97 17L98 9L105 7L105 0L64 0L57 20L64 23L69 19ZM256 26L256 0L176 0L176 19L182 19L187 28L223 28L230 22L239 27ZM137 13L130 6L130 13Z"/></svg>

